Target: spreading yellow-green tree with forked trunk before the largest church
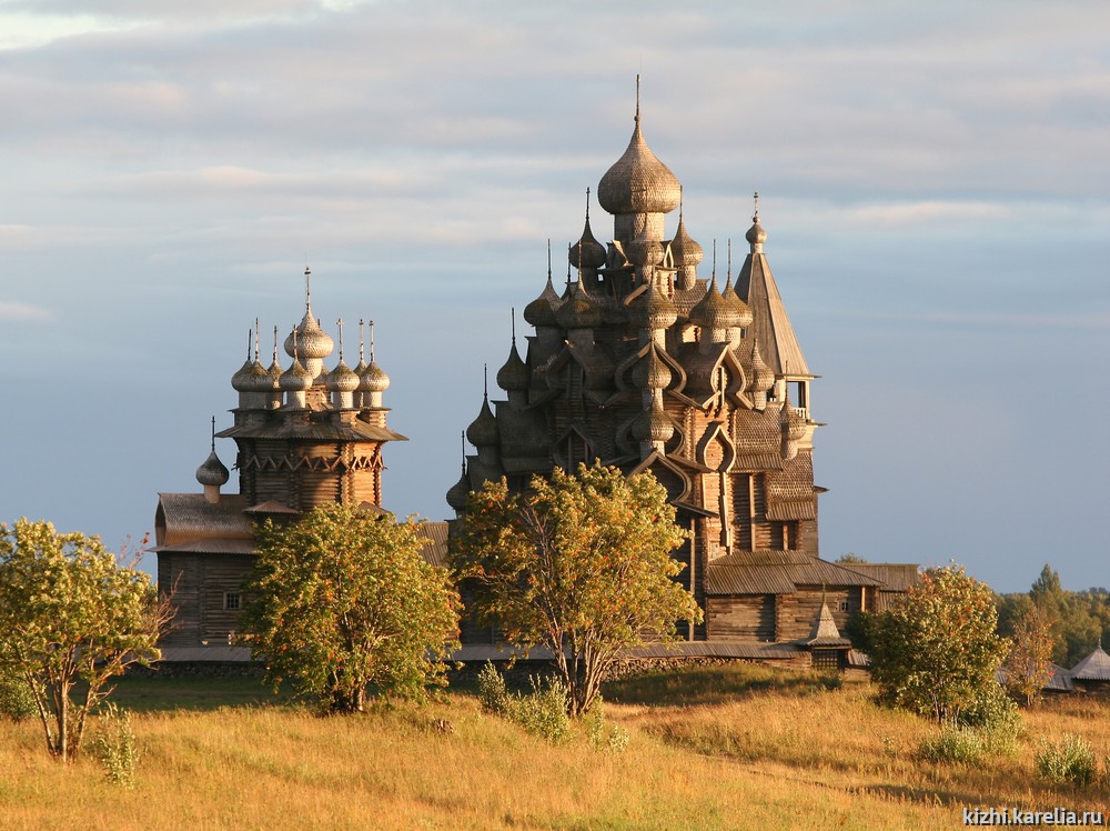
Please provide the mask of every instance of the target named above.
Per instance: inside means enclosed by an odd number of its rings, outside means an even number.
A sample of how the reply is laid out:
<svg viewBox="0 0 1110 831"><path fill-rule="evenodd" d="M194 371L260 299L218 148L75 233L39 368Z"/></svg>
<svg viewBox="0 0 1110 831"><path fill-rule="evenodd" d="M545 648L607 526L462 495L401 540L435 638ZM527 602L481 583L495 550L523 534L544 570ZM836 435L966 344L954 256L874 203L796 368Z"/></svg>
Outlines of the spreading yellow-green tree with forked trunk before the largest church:
<svg viewBox="0 0 1110 831"><path fill-rule="evenodd" d="M700 620L674 578L670 552L686 533L650 473L579 464L533 478L526 494L504 479L470 495L452 548L473 609L505 640L546 647L569 691L572 715L586 712L622 652L675 637L678 620Z"/></svg>

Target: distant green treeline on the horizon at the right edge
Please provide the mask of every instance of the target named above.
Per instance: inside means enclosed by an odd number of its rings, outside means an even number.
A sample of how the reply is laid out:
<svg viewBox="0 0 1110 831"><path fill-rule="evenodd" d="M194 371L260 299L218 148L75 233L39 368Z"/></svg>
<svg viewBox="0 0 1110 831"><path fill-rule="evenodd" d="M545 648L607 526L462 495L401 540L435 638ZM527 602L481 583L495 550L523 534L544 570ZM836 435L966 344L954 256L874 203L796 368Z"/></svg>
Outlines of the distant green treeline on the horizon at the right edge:
<svg viewBox="0 0 1110 831"><path fill-rule="evenodd" d="M1047 563L1028 592L995 597L999 634L1012 635L1013 622L1035 605L1049 615L1056 635L1052 660L1064 669L1090 654L1110 630L1110 592L1102 587L1068 591Z"/></svg>

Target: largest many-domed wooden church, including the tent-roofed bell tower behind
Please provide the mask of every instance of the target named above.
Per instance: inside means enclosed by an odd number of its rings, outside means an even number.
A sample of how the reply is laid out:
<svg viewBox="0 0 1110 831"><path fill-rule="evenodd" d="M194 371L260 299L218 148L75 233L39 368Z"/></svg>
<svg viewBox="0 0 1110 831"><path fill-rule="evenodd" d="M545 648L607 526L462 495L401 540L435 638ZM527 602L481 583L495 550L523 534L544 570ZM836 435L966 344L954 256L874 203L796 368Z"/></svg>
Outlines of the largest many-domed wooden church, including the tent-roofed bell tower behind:
<svg viewBox="0 0 1110 831"><path fill-rule="evenodd" d="M644 139L637 100L624 154L602 177L613 216L601 244L589 221L569 248L566 288L552 282L525 311L526 359L515 336L497 373L504 400L483 400L466 431L476 453L447 493L507 477L524 488L554 465L601 459L650 470L690 541L680 578L706 611L690 639L790 641L806 637L827 598L842 624L879 581L818 558L808 363L764 247L758 212L733 282L689 236L675 174ZM666 217L679 209L672 236ZM549 253L548 253L549 259ZM716 256L714 256L716 260ZM481 639L481 633L464 628Z"/></svg>

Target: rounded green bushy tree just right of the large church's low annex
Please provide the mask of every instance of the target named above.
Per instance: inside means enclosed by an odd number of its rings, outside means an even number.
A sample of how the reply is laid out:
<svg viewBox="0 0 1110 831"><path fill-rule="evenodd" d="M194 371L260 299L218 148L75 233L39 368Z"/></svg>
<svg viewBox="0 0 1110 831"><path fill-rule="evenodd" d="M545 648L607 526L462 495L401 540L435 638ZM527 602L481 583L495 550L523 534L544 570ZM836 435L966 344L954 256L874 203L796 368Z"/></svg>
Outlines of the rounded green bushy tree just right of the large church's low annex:
<svg viewBox="0 0 1110 831"><path fill-rule="evenodd" d="M872 620L880 699L937 721L959 720L997 693L995 673L1008 651L997 622L993 592L962 567L926 572Z"/></svg>

